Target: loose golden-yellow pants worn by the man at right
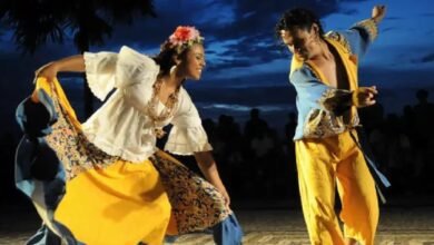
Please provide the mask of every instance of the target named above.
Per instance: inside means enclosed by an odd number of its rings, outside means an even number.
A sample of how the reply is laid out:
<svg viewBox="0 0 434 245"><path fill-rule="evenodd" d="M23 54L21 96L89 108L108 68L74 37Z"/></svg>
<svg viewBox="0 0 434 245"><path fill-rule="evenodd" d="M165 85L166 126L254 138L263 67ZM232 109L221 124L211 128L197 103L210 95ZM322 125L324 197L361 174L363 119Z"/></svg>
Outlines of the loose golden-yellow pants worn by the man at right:
<svg viewBox="0 0 434 245"><path fill-rule="evenodd" d="M353 131L356 135L356 131ZM312 244L341 245L344 237L374 244L378 223L375 183L349 131L295 143L303 214ZM342 234L334 210L341 197Z"/></svg>

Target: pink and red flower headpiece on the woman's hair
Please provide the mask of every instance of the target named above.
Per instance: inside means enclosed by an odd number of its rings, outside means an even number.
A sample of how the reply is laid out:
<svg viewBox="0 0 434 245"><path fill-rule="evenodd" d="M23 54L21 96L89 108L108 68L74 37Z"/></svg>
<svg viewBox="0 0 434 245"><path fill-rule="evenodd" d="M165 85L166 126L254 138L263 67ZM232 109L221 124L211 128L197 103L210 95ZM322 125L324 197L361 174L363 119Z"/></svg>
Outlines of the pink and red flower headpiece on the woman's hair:
<svg viewBox="0 0 434 245"><path fill-rule="evenodd" d="M200 37L199 31L195 27L179 26L176 28L175 32L170 35L168 42L171 47L177 49L178 53L180 53L195 43L203 43L204 38Z"/></svg>

